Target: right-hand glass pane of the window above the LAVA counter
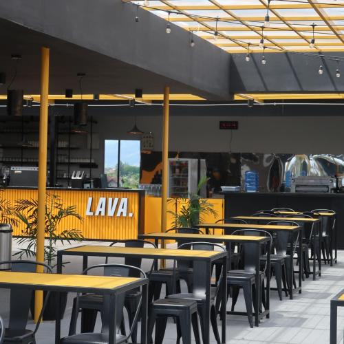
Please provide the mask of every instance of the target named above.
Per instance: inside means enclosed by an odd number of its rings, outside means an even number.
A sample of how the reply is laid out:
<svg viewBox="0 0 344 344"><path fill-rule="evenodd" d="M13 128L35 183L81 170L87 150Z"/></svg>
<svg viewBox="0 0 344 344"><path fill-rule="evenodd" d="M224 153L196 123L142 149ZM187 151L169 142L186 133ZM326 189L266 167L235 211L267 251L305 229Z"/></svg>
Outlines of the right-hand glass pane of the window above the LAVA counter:
<svg viewBox="0 0 344 344"><path fill-rule="evenodd" d="M140 182L140 140L120 141L120 187L137 189Z"/></svg>

